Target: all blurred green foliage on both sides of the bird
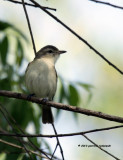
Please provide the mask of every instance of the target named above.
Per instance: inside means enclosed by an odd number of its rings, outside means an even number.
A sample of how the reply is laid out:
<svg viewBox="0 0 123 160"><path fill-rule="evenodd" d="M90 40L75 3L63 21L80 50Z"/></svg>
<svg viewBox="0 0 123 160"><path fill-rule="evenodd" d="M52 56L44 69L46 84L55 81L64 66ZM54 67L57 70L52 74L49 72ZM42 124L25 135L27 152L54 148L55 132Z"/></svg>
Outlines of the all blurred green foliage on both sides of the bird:
<svg viewBox="0 0 123 160"><path fill-rule="evenodd" d="M9 34L8 34L9 31ZM12 33L12 34L11 34ZM19 91L28 93L24 86L24 73L20 74L19 70L23 67L23 63L26 60L24 53L24 43L29 44L26 36L15 26L0 21L0 90L11 90L11 91ZM10 40L11 37L14 37L14 40ZM14 52L11 52L11 46L14 45ZM14 54L14 55L13 55ZM14 56L14 60L11 59L11 56ZM12 60L12 64L10 61ZM60 78L60 89L59 89L59 102L64 103L67 102L70 105L78 106L80 104L80 100L82 96L80 96L80 88L83 88L88 93L87 103L89 103L92 92L91 88L93 86L81 82L66 82ZM25 102L17 99L8 99L0 97L0 107L6 107L9 114L15 119L17 124L23 129L26 130L29 123L33 123L35 126L35 133L40 133L41 125L40 125L40 117L41 110L36 106L29 102ZM38 110L38 113L37 111ZM5 111L3 111L5 112ZM56 117L58 118L61 113L61 110L56 110ZM6 116L9 120L12 121L11 116L6 112ZM77 115L73 113L74 117L77 118ZM14 125L10 127L8 122L5 120L3 114L0 114L0 129L8 130L9 132L20 132L20 130ZM12 122L13 124L14 122ZM18 141L10 138L10 137L1 137L8 142L14 142L18 144ZM49 148L49 153L51 153L51 149L48 143L43 139L42 142L45 144L46 148ZM40 146L40 142L37 138L33 139L33 143L36 146ZM19 145L22 145L19 143ZM15 149L5 144L0 145L0 152L13 152L13 154L6 154L6 160L14 160L14 159L29 159L25 154L15 154L15 152L20 152L20 149ZM36 159L36 157L33 157Z"/></svg>

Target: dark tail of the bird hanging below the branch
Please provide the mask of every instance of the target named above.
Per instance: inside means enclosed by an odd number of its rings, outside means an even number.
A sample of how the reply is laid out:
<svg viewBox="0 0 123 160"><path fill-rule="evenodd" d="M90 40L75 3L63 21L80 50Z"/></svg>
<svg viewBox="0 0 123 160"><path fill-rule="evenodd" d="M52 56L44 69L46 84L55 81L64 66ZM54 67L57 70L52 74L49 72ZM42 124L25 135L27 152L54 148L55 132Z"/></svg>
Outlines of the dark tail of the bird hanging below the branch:
<svg viewBox="0 0 123 160"><path fill-rule="evenodd" d="M51 108L45 105L43 105L42 107L42 122L43 123L53 123L54 122Z"/></svg>

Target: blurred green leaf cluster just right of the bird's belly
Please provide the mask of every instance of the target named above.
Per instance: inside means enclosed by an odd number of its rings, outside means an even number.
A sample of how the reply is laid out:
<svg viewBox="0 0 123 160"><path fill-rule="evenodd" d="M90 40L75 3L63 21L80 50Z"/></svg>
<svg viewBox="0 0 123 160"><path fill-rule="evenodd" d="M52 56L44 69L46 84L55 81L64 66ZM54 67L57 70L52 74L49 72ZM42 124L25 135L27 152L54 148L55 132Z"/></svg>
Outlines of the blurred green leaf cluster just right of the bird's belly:
<svg viewBox="0 0 123 160"><path fill-rule="evenodd" d="M60 77L60 89L59 89L59 102L64 103L66 102L69 105L72 106L78 106L80 107L80 104L83 104L84 107L87 107L89 102L92 98L92 88L93 86L87 83L82 82L66 82ZM84 89L87 92L87 98L85 100L85 103L83 101L82 103L82 91L81 89ZM56 118L60 115L61 110L57 110L56 112ZM77 113L72 113L75 120L77 120Z"/></svg>

